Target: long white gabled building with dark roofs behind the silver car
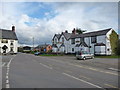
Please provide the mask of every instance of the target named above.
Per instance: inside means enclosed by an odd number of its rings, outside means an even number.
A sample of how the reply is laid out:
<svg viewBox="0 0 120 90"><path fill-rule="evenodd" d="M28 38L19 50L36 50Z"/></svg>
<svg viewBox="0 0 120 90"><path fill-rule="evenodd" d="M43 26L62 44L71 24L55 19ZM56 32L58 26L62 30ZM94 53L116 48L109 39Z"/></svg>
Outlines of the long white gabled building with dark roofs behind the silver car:
<svg viewBox="0 0 120 90"><path fill-rule="evenodd" d="M111 55L110 35L112 33L114 33L115 37L118 36L112 28L83 34L76 33L75 29L72 33L65 31L54 35L52 51L66 54L87 51L95 55Z"/></svg>

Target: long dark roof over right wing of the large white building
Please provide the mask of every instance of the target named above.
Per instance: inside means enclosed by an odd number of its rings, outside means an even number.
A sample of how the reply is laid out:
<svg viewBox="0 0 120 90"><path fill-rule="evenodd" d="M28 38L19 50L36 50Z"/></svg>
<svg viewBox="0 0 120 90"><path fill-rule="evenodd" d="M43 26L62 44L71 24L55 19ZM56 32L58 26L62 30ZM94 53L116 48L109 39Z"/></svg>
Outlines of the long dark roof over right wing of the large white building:
<svg viewBox="0 0 120 90"><path fill-rule="evenodd" d="M111 29L112 28L105 29L105 30L94 31L94 32L83 33L83 34L72 34L70 38L79 38L79 37L90 37L90 36L105 35Z"/></svg>

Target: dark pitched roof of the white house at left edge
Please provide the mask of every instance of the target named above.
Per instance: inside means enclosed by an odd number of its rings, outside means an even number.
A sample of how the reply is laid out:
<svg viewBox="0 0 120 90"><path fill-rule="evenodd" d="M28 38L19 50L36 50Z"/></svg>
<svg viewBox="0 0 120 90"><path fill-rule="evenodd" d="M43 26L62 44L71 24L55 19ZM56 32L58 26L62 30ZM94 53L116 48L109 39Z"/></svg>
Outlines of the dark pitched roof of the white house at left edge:
<svg viewBox="0 0 120 90"><path fill-rule="evenodd" d="M5 29L0 29L0 38L18 40L15 32Z"/></svg>

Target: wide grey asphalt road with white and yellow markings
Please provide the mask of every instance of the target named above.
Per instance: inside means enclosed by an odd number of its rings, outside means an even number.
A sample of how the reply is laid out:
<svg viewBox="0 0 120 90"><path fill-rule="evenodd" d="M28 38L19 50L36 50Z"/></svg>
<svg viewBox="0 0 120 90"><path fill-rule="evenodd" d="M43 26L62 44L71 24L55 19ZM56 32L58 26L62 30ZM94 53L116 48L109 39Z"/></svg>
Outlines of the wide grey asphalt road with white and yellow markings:
<svg viewBox="0 0 120 90"><path fill-rule="evenodd" d="M71 58L71 60L69 60ZM87 65L75 57L17 54L3 57L3 88L117 88L117 71ZM73 60L72 60L73 59ZM85 61L82 61L85 62Z"/></svg>

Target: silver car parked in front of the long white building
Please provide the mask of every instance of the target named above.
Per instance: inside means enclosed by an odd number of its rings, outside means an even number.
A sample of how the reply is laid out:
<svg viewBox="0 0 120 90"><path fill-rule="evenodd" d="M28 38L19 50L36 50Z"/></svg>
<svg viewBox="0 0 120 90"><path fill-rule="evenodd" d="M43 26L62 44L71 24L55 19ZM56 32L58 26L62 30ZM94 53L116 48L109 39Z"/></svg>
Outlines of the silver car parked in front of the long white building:
<svg viewBox="0 0 120 90"><path fill-rule="evenodd" d="M79 59L92 59L94 58L94 55L87 52L87 51L80 51L80 52L77 52L76 53L76 58L79 60Z"/></svg>

